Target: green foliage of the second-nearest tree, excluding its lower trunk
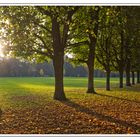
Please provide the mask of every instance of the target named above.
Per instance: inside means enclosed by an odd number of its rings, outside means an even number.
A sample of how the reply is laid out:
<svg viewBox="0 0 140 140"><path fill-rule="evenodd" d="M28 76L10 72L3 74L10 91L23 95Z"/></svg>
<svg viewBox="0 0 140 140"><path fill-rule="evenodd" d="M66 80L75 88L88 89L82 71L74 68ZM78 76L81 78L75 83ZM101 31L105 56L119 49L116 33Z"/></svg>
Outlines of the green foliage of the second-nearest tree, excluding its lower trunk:
<svg viewBox="0 0 140 140"><path fill-rule="evenodd" d="M69 44L72 44L74 47L71 47L71 49L68 50L68 52L73 56L73 58L70 60L75 64L88 62L89 53L91 52L91 40L97 38L97 33L95 30L99 23L99 9L100 7L95 6L82 7L76 14L76 19L73 25L74 27L72 26L73 28L76 28L76 30L72 32L72 39L69 40ZM94 44L96 44L96 41L94 41Z"/></svg>

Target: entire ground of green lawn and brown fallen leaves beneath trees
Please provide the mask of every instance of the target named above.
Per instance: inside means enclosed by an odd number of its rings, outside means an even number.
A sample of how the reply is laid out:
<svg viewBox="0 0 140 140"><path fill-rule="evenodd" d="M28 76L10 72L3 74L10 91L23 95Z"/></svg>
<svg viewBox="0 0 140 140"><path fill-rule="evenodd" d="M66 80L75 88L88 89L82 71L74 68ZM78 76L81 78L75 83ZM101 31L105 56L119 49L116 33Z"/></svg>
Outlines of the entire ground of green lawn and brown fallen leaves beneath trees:
<svg viewBox="0 0 140 140"><path fill-rule="evenodd" d="M86 94L87 78L65 78L68 101L54 101L54 78L0 78L1 134L140 134L140 85L118 89L96 78L97 94Z"/></svg>

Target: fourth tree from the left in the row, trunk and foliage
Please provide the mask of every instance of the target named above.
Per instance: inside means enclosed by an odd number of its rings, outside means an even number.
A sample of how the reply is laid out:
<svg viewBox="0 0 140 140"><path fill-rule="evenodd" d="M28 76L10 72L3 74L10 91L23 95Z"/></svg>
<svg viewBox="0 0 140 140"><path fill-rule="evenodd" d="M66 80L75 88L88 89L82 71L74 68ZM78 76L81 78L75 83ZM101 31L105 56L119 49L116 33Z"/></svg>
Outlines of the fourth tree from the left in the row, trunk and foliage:
<svg viewBox="0 0 140 140"><path fill-rule="evenodd" d="M116 71L119 71L119 87L123 88L123 72L125 69L125 49L124 49L124 35L125 35L125 16L122 7L115 7L112 16L112 49L113 60L112 66ZM116 16L117 15L117 16Z"/></svg>

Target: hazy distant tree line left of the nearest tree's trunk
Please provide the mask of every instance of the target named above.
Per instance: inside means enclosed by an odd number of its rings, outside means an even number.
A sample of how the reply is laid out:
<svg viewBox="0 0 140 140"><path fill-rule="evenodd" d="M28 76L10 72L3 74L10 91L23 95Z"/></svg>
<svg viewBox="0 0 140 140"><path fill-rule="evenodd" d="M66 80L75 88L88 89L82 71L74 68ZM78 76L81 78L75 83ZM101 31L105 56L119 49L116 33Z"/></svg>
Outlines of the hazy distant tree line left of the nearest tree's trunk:
<svg viewBox="0 0 140 140"><path fill-rule="evenodd" d="M1 77L23 77L23 76L53 76L52 64L29 63L19 61L14 58L2 58L0 60L0 76Z"/></svg>

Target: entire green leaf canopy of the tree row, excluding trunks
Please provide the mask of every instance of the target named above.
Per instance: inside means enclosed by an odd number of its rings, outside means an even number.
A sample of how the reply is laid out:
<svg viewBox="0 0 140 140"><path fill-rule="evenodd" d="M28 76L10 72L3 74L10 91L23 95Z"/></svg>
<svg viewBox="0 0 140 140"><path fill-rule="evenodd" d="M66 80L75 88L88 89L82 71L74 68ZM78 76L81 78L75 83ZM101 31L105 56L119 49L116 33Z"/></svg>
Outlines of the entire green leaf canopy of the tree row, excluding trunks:
<svg viewBox="0 0 140 140"><path fill-rule="evenodd" d="M64 28L68 27L68 37L65 52L71 53L75 64L88 61L89 35L98 40L97 46L104 46L106 38L110 38L110 65L114 71L118 70L121 61L121 34L124 37L123 58L127 57L138 64L139 54L139 7L117 6L81 6L68 20L68 13L75 10L74 6L6 6L0 7L1 44L5 46L5 54L25 58L30 61L50 61L53 58L52 18L56 18L60 26L61 39ZM99 19L96 12L100 9ZM130 13L130 11L132 11ZM98 35L95 26L99 24ZM104 40L101 40L101 35ZM137 46L137 47L135 47ZM104 48L104 47L103 47ZM106 57L103 49L96 51ZM126 54L127 52L127 54ZM129 55L128 55L129 54ZM101 58L100 58L101 59ZM97 64L99 66L100 64ZM132 66L136 69L136 65ZM138 66L137 66L138 69Z"/></svg>

